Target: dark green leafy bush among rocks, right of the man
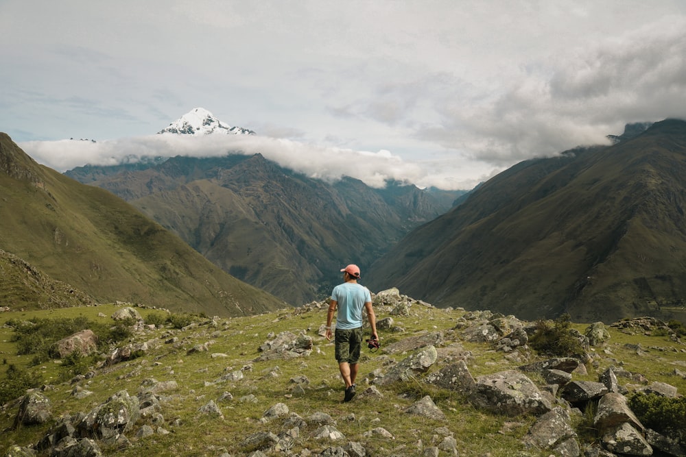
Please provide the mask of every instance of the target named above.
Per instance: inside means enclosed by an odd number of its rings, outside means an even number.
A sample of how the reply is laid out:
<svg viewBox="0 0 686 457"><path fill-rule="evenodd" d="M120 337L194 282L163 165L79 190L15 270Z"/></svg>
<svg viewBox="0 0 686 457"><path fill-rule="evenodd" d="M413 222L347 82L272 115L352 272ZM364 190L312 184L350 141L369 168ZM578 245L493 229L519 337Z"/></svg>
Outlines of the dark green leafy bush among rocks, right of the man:
<svg viewBox="0 0 686 457"><path fill-rule="evenodd" d="M552 323L538 321L529 345L546 356L582 358L586 351L579 338L572 334L570 319L569 314L562 314Z"/></svg>

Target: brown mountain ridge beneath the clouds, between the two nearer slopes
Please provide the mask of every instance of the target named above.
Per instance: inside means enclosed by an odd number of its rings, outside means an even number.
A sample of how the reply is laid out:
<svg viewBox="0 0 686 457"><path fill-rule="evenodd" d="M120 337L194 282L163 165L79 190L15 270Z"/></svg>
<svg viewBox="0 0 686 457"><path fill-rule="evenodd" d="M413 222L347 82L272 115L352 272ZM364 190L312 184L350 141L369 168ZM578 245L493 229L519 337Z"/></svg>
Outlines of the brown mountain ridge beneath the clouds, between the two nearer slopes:
<svg viewBox="0 0 686 457"><path fill-rule="evenodd" d="M460 193L389 183L327 183L260 154L175 157L65 173L110 190L224 271L299 306L325 297L340 268L366 267Z"/></svg>

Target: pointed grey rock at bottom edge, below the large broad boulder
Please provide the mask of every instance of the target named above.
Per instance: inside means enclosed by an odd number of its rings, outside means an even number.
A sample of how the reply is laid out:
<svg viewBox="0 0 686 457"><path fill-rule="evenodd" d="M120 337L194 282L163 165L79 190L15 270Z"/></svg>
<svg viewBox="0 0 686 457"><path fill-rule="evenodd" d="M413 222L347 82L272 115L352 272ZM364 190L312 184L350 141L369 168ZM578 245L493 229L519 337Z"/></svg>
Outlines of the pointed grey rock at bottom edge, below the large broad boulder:
<svg viewBox="0 0 686 457"><path fill-rule="evenodd" d="M529 429L524 438L524 443L530 447L539 447L551 451L562 446L565 449L563 455L579 456L580 450L576 438L577 434L571 426L569 412L558 406L539 417ZM576 443L576 451L574 445L568 443L570 440ZM560 452L560 454L562 453Z"/></svg>

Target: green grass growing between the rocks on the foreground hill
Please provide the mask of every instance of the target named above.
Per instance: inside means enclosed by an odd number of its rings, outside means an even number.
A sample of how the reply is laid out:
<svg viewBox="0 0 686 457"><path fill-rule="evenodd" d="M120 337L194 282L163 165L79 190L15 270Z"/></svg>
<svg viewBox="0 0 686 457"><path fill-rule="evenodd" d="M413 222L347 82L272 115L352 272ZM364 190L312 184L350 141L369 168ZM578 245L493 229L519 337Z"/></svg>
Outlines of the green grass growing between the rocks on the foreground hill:
<svg viewBox="0 0 686 457"><path fill-rule="evenodd" d="M333 344L316 334L326 319L327 311L323 307L305 312L285 309L254 317L219 319L215 321L215 326L193 324L182 330L165 327L137 334L132 337L132 341L150 341L154 343L151 345L152 349L140 358L102 369L94 378L80 381L79 385L93 392L84 399L70 395L74 387L72 384L56 383L60 371L64 369L60 365L47 362L38 367L29 367L25 356L16 356L16 351L10 343L11 330L2 326L9 319L51 315L83 315L88 319L108 321L117 308L119 306L104 305L0 314L0 350L4 353L3 358L7 358L8 364L13 363L39 373L46 384L55 384L53 390L45 391L45 395L51 399L55 417L67 413L88 412L121 389L135 395L141 383L149 378L178 382L175 391L162 394L166 398L163 404L166 423L163 426L171 433L154 434L146 439L136 440L135 432L142 425L139 423L132 432L127 433L134 441L133 446L117 451L117 455L215 456L222 452L242 455L246 449L241 449L239 443L246 436L266 430L275 433L285 431L283 418L274 419L268 424L261 421L264 412L277 403L285 404L290 412L295 412L305 419L314 412L325 412L336 421L336 428L346 436L345 440L337 442L315 441L309 438L314 429L300 430L300 438L296 439L290 449L290 452L296 455L304 449L321 452L330 445L343 445L348 441L364 443L368 455L416 455L418 443L426 447L438 445L442 441L440 428L447 428L458 441L461 455L549 455L549 452L526 449L521 443L522 437L534 422L534 417L510 418L478 410L471 406L468 398L452 391L428 386L419 379L380 387L383 399L364 398L361 392L366 388L365 378L375 369L386 371L388 366L385 363L389 358L400 361L407 354L388 356L383 354L383 350L370 354L365 349L357 380L358 397L353 402L343 404L343 384L338 373L338 365L333 359ZM137 309L143 317L160 312ZM377 309L377 317L386 317L387 311L386 308L380 307ZM383 345L390 344L390 341L397 341L424 330L440 330L447 338L454 338L449 336L450 330L463 313L461 310L445 311L423 306L412 306L411 311L410 317L394 317L397 325L405 328L405 333L381 333L382 349ZM100 312L106 317L98 317ZM210 322L210 319L204 321ZM577 323L573 326L580 331L586 327ZM264 341L286 330L295 334L304 331L314 339L314 350L310 356L292 360L254 361L261 354L258 347ZM683 346L672 343L666 336L628 335L612 328L610 332L611 343L606 347L607 354L603 349L596 348L596 353L600 354L598 367L589 364L588 375L575 375L575 379L597 380L598 373L610 365L619 365L621 361L625 369L642 373L650 381L668 382L677 386L679 391L685 391L686 381L670 374L674 367L680 366L678 362L683 358L683 351L656 349L676 347L678 350ZM164 343L173 336L182 343L180 347ZM187 349L199 343L209 343L209 351L187 354ZM624 346L625 343L640 343L649 351L650 356L637 355L636 351ZM517 367L516 363L504 359L502 353L493 351L490 345L462 344L473 354L468 366L474 376ZM226 354L226 357L212 358L211 354L214 353ZM4 376L6 367L7 365L0 365L0 377ZM237 370L243 371L244 379L215 384L224 373ZM299 375L305 375L309 380L309 384L305 385L306 395L298 395L292 391L294 384L291 380ZM620 379L620 382L627 383L628 380ZM210 400L217 402L224 392L233 395L232 400L217 403L224 414L224 421L206 417L198 412L198 409ZM247 395L255 395L257 402L240 402L239 399ZM445 413L447 421L433 421L404 413L405 408L424 395L430 395L434 399ZM592 439L594 433L594 430L589 428L587 415L590 414L587 412L584 417L575 419L580 434L587 439ZM45 426L22 427L10 432L9 428L15 415L16 406L9 406L1 412L0 430L3 430L3 433L0 439L0 453L12 443L36 443L47 429ZM181 425L172 424L176 419ZM367 432L377 427L388 430L393 438L366 436ZM104 452L106 455L115 454L114 449L104 449Z"/></svg>

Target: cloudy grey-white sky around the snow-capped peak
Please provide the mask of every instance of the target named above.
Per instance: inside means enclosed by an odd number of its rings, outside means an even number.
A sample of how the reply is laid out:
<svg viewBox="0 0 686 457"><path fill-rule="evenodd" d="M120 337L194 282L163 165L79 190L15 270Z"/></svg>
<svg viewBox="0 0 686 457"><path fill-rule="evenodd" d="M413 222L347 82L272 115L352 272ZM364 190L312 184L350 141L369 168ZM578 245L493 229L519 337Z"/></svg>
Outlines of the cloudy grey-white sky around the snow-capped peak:
<svg viewBox="0 0 686 457"><path fill-rule="evenodd" d="M59 171L241 147L322 177L471 188L686 119L681 0L0 0L0 30L0 132ZM197 107L258 136L155 135Z"/></svg>

